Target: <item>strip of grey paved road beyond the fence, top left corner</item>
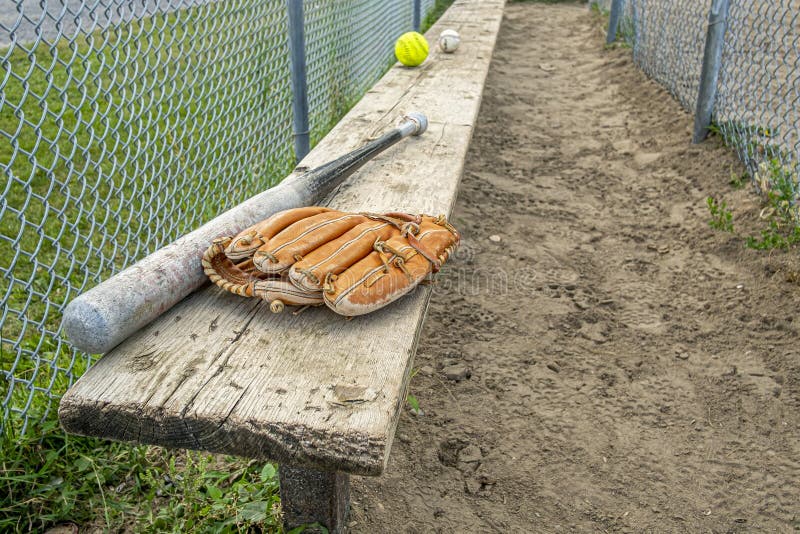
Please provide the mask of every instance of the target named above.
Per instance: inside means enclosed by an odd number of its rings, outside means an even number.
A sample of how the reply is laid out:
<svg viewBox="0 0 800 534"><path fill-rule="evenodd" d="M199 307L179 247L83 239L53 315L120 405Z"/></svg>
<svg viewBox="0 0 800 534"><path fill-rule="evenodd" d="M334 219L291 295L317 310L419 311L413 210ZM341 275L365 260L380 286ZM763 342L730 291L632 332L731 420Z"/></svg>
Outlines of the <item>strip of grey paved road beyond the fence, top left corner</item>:
<svg viewBox="0 0 800 534"><path fill-rule="evenodd" d="M121 20L174 11L214 0L0 0L0 47L32 43L41 34L49 41L68 39Z"/></svg>

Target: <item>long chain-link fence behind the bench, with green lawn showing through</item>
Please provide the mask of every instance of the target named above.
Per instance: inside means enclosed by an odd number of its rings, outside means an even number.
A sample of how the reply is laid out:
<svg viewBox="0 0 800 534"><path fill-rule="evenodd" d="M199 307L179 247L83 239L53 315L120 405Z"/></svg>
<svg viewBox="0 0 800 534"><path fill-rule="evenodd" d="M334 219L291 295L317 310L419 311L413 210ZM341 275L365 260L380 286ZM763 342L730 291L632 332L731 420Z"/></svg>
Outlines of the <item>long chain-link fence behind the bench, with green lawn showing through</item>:
<svg viewBox="0 0 800 534"><path fill-rule="evenodd" d="M305 2L313 141L414 1ZM0 61L0 429L25 432L92 363L72 298L291 170L287 2L2 0Z"/></svg>

